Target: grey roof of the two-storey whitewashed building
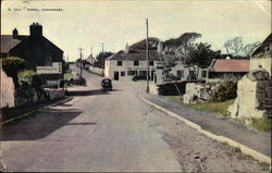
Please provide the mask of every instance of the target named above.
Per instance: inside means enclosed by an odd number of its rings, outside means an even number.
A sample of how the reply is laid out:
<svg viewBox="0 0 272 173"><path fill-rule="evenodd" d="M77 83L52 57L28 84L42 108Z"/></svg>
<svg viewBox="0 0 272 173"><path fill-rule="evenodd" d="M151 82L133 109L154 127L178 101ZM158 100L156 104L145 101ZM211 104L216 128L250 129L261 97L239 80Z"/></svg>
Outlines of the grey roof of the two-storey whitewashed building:
<svg viewBox="0 0 272 173"><path fill-rule="evenodd" d="M128 53L121 50L111 57L107 58L107 60L128 60L128 61L144 61L146 60L146 51L145 50L129 50ZM149 60L159 61L160 54L157 50L149 50Z"/></svg>

